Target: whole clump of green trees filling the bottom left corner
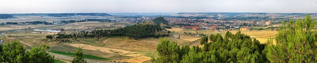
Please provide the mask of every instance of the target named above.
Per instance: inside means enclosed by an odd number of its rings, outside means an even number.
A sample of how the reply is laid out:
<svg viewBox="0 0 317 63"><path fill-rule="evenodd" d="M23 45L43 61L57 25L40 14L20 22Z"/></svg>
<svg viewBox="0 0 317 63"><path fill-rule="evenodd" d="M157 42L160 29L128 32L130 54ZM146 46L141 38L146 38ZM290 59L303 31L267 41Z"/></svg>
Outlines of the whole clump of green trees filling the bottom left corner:
<svg viewBox="0 0 317 63"><path fill-rule="evenodd" d="M13 41L3 45L3 50L0 52L0 62L53 63L54 56L49 55L47 49L49 49L49 46L41 45L25 52L26 49L19 43L19 41Z"/></svg>

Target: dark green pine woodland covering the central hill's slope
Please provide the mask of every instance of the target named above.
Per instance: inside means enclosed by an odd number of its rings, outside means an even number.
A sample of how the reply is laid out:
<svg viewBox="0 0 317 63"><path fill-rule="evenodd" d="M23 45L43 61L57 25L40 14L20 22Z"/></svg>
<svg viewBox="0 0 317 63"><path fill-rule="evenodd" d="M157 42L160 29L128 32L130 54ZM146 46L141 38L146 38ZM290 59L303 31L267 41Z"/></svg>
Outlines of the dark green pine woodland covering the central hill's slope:
<svg viewBox="0 0 317 63"><path fill-rule="evenodd" d="M80 38L80 37L111 37L111 36L126 36L130 39L142 39L142 38L159 38L169 36L167 32L166 34L155 34L158 31L167 31L164 28L161 28L159 25L150 25L150 24L135 24L132 26L127 26L124 28L118 29L105 29L105 30L93 30L91 32L78 32L72 34L58 34L57 39L62 38Z"/></svg>

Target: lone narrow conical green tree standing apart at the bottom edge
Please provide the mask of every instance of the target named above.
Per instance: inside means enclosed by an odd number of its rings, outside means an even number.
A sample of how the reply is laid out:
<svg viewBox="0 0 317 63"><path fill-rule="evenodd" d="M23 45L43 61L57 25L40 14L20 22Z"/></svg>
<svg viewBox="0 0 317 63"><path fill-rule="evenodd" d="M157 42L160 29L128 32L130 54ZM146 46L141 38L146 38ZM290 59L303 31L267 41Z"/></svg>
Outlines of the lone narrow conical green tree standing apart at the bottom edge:
<svg viewBox="0 0 317 63"><path fill-rule="evenodd" d="M78 50L75 49L75 56L73 58L72 63L86 63L87 61L84 58L84 54L82 53L82 48L78 47Z"/></svg>

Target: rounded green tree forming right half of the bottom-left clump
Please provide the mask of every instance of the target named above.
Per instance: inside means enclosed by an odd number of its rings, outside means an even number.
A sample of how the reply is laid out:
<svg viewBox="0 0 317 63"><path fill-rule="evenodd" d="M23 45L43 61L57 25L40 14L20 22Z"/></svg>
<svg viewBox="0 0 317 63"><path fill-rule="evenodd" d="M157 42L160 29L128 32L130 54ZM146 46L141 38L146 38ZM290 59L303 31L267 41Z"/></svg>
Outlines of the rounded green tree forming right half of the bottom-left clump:
<svg viewBox="0 0 317 63"><path fill-rule="evenodd" d="M47 51L48 45L40 45L32 48L26 53L26 58L29 63L54 63L54 56Z"/></svg>

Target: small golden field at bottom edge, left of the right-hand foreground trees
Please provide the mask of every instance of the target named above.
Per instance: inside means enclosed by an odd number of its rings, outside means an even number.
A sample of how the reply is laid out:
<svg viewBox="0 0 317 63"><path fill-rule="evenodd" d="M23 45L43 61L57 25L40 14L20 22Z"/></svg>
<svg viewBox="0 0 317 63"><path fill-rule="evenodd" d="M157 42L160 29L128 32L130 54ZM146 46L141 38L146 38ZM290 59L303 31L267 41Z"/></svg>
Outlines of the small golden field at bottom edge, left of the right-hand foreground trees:
<svg viewBox="0 0 317 63"><path fill-rule="evenodd" d="M151 57L146 57L146 56L140 56L136 58L131 58L131 59L125 59L125 60L116 60L120 62L131 62L131 63L142 63L146 60L151 60Z"/></svg>

